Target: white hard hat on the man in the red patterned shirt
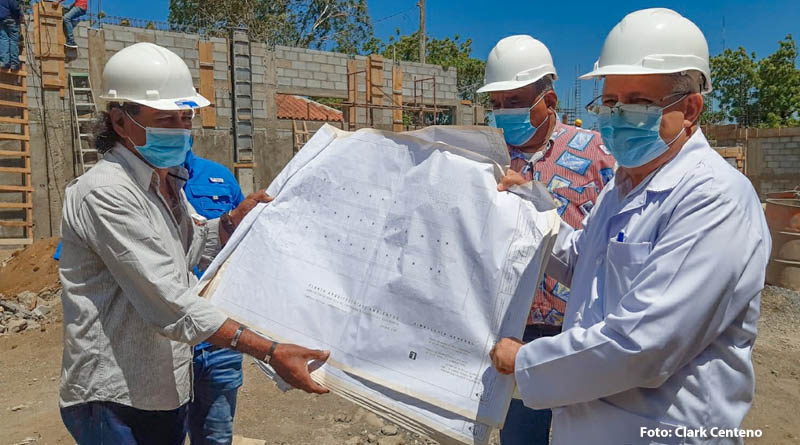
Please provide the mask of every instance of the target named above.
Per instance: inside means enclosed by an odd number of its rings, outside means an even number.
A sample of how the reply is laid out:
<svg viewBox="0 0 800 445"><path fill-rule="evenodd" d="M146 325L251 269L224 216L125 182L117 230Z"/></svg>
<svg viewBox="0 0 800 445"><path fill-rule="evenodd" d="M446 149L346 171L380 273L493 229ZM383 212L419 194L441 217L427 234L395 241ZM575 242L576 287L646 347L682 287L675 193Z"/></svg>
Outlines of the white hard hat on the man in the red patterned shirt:
<svg viewBox="0 0 800 445"><path fill-rule="evenodd" d="M551 74L557 79L553 57L544 43L531 36L506 37L492 48L479 93L508 91L530 85Z"/></svg>

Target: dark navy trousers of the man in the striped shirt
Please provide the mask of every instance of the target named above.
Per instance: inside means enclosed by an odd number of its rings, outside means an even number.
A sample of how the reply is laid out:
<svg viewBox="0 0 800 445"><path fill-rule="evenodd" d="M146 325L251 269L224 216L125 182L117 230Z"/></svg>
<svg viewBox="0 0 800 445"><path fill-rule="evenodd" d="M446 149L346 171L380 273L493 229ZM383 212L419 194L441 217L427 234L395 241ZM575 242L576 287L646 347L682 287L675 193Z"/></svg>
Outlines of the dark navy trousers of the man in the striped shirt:
<svg viewBox="0 0 800 445"><path fill-rule="evenodd" d="M61 408L61 420L78 445L181 445L186 441L187 407L145 411L89 402Z"/></svg>

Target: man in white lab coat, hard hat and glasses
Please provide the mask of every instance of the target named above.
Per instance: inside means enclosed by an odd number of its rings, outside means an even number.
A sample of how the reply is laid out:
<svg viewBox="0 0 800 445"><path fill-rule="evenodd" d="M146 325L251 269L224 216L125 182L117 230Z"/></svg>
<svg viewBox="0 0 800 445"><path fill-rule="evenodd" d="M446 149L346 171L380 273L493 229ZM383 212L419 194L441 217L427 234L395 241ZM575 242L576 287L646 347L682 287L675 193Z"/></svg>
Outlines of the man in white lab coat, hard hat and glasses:
<svg viewBox="0 0 800 445"><path fill-rule="evenodd" d="M564 332L501 339L492 361L525 405L554 409L558 444L760 437L740 426L770 235L750 181L698 125L706 39L675 11L636 11L584 77L604 79L588 109L619 169L583 229L562 225L548 263L571 283Z"/></svg>

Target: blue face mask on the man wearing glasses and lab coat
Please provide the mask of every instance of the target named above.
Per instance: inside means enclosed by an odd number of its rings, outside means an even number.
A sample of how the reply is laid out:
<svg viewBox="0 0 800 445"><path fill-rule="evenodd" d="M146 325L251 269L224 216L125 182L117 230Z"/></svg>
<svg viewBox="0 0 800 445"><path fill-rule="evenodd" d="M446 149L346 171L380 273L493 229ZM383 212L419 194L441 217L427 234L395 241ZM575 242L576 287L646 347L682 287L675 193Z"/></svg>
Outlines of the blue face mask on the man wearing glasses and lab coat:
<svg viewBox="0 0 800 445"><path fill-rule="evenodd" d="M614 107L598 107L600 134L608 151L623 167L641 167L669 150L683 132L666 142L661 139L661 117L664 110L683 100L686 96L666 107L653 105L617 104Z"/></svg>

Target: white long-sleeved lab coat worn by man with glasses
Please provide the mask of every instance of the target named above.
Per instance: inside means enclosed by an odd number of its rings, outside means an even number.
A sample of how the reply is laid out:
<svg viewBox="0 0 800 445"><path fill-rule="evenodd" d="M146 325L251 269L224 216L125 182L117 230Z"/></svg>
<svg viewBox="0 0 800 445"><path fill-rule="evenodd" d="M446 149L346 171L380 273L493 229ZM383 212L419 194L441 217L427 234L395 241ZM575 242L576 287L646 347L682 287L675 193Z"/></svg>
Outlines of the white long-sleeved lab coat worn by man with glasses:
<svg viewBox="0 0 800 445"><path fill-rule="evenodd" d="M700 442L640 427L737 428L753 399L771 241L752 185L699 129L624 185L605 187L583 230L562 224L547 272L572 283L564 332L517 355L522 399L553 408L555 444Z"/></svg>

